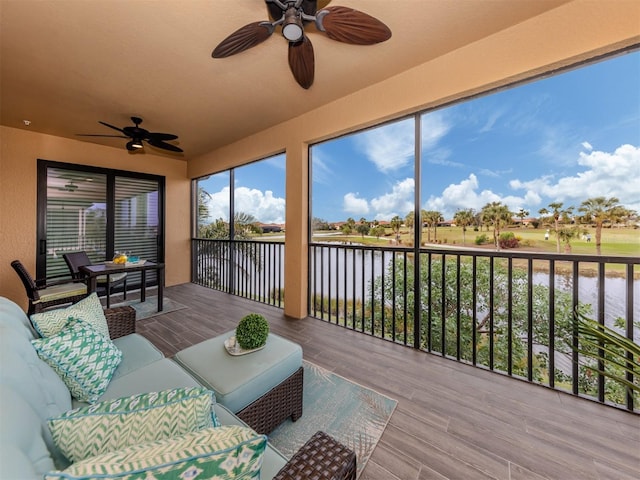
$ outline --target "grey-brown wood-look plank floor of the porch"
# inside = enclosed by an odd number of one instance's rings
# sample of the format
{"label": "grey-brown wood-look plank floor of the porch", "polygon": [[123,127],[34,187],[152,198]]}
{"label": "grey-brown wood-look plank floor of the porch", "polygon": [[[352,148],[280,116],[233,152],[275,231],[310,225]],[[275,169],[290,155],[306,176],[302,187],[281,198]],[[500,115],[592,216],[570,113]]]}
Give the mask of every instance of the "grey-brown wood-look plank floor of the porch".
{"label": "grey-brown wood-look plank floor of the porch", "polygon": [[167,356],[262,313],[304,358],[398,400],[362,480],[639,479],[640,416],[193,284],[138,322]]}

